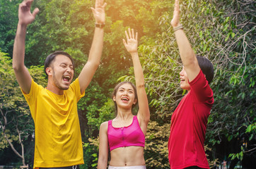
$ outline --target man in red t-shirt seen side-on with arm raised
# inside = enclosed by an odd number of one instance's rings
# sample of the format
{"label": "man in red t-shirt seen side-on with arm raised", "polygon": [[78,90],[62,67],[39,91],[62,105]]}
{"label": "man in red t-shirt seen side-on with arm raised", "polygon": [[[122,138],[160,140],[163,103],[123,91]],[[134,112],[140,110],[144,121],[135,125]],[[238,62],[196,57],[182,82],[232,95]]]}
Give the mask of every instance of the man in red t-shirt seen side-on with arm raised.
{"label": "man in red t-shirt seen side-on with arm raised", "polygon": [[204,57],[196,56],[180,24],[179,1],[175,0],[171,21],[183,63],[180,87],[187,90],[175,109],[168,142],[170,168],[209,168],[204,152],[207,118],[214,104],[209,83],[214,67]]}

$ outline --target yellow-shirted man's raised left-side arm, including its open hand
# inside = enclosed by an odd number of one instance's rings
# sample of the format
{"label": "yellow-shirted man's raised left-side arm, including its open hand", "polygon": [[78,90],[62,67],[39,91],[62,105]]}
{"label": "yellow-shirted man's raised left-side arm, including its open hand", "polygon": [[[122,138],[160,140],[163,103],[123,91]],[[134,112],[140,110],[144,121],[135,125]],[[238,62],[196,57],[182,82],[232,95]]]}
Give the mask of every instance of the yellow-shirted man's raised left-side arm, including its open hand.
{"label": "yellow-shirted man's raised left-side arm, including its open hand", "polygon": [[25,0],[18,7],[18,26],[13,45],[13,69],[18,84],[25,94],[30,92],[32,81],[28,69],[24,65],[25,34],[27,26],[35,20],[35,15],[39,12],[38,8],[35,8],[33,13],[30,12],[32,3],[33,0]]}

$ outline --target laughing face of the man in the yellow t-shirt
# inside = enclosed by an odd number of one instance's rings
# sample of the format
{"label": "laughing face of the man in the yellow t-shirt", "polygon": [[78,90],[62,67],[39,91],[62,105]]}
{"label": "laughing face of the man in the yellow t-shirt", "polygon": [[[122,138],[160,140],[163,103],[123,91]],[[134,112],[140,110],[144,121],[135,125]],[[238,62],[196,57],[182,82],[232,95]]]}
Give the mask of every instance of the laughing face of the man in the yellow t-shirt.
{"label": "laughing face of the man in the yellow t-shirt", "polygon": [[69,85],[74,77],[74,65],[69,57],[57,55],[47,68],[48,80],[52,81],[54,87],[60,90],[69,89]]}

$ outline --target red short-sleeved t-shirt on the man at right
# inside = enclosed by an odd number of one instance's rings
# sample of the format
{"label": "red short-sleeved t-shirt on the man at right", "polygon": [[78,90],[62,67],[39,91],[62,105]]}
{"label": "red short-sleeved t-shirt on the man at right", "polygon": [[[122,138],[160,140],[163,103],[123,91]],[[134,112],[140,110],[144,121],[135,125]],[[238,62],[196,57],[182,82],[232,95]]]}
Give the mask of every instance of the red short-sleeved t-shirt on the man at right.
{"label": "red short-sleeved t-shirt on the man at right", "polygon": [[175,109],[168,142],[170,168],[197,165],[209,168],[204,152],[207,118],[214,104],[214,94],[200,70],[190,82],[190,92]]}

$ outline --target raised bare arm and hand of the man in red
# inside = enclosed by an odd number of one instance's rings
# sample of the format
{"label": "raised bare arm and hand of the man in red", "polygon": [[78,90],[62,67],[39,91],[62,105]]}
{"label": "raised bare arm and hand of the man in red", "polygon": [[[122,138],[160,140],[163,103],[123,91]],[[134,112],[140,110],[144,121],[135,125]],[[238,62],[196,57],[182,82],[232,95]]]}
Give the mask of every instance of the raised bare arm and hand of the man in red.
{"label": "raised bare arm and hand of the man in red", "polygon": [[185,32],[180,28],[182,25],[180,24],[179,0],[175,0],[175,8],[173,11],[173,20],[171,21],[171,25],[175,31],[175,38],[178,43],[180,58],[186,70],[187,77],[191,82],[195,77],[197,77],[200,68],[190,42],[188,41]]}

